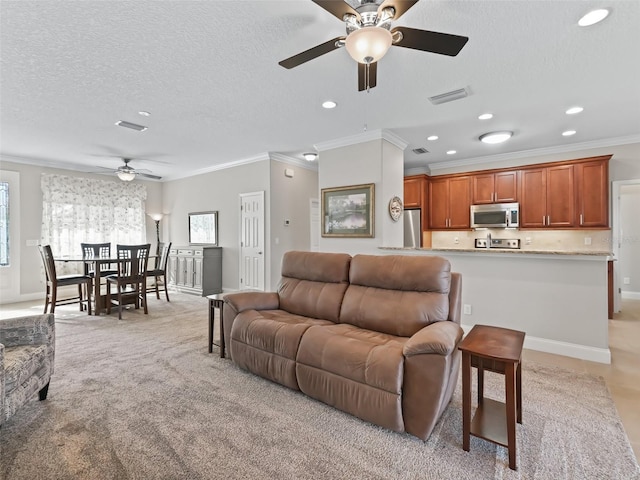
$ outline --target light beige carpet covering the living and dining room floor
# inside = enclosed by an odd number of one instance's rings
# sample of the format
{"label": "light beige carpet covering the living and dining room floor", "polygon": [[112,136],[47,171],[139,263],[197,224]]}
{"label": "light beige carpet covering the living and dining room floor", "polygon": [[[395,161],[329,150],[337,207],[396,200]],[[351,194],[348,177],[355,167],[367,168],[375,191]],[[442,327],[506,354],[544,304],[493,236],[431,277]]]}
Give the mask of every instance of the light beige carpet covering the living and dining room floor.
{"label": "light beige carpet covering the living and dining room floor", "polygon": [[[149,299],[123,320],[65,310],[45,402],[0,430],[0,478],[639,479],[602,379],[525,364],[518,471],[462,450],[460,388],[423,442],[364,423],[207,351],[207,303]],[[488,396],[502,378],[487,374]]]}

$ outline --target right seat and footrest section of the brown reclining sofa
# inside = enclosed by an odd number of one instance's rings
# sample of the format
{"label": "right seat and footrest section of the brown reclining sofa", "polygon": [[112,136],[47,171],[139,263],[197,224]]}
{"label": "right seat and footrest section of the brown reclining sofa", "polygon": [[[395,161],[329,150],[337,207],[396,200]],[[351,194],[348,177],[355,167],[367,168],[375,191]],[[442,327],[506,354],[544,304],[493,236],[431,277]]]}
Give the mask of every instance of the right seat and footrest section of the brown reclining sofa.
{"label": "right seat and footrest section of the brown reclining sofa", "polygon": [[298,350],[300,390],[363,420],[403,431],[406,340],[354,327],[310,327]]}

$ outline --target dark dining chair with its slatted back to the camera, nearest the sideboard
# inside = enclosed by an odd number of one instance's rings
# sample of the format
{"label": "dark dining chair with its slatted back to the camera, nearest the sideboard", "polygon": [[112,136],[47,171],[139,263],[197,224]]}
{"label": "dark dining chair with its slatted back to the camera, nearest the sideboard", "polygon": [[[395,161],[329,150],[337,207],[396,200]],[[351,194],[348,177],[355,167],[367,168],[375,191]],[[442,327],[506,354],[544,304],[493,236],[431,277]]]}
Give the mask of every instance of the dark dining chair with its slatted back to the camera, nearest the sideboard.
{"label": "dark dining chair with its slatted back to the camera, nearest the sideboard", "polygon": [[[118,319],[122,319],[122,307],[133,303],[140,308],[140,302],[147,309],[146,272],[149,261],[151,244],[144,245],[116,245],[118,253],[118,271],[107,279],[107,314],[111,313],[113,305],[118,306]],[[111,288],[116,288],[116,298],[112,298]]]}

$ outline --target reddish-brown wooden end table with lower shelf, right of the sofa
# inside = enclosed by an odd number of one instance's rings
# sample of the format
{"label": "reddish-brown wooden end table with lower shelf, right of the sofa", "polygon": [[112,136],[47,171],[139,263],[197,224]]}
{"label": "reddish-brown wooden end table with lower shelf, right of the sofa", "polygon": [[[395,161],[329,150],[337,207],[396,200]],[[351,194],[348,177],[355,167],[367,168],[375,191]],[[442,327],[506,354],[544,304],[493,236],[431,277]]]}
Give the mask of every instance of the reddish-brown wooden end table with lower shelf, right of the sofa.
{"label": "reddish-brown wooden end table with lower shelf, right of the sofa", "polygon": [[[460,342],[462,351],[462,448],[470,436],[507,447],[509,468],[516,467],[516,421],[522,423],[522,345],[525,333],[475,325]],[[471,369],[478,369],[478,408],[471,420]],[[484,398],[484,371],[505,376],[505,402]]]}

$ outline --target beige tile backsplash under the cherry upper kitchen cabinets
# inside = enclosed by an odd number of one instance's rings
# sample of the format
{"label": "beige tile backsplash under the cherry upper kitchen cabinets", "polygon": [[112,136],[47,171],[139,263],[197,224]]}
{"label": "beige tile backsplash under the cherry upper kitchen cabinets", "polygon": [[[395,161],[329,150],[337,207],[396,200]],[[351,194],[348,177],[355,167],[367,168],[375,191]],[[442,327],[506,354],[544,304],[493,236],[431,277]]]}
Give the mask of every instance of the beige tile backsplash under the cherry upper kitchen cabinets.
{"label": "beige tile backsplash under the cherry upper kitchen cabinets", "polygon": [[611,230],[509,230],[433,231],[431,248],[475,248],[476,238],[519,238],[521,250],[554,252],[610,252]]}

